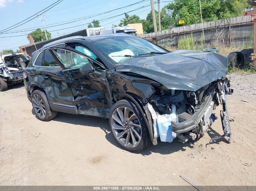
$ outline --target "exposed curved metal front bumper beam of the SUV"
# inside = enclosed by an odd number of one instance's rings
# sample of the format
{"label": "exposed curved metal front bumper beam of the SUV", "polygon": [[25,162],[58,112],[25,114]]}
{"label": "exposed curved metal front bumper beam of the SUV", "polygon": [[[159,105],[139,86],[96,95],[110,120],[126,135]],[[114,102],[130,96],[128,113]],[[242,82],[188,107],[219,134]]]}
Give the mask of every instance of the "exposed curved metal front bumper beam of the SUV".
{"label": "exposed curved metal front bumper beam of the SUV", "polygon": [[211,104],[211,101],[214,97],[215,88],[212,88],[212,91],[210,91],[210,94],[204,98],[204,102],[201,104],[201,108],[199,111],[196,111],[191,119],[188,119],[181,123],[176,123],[174,121],[171,121],[171,129],[173,132],[179,134],[179,133],[185,133],[188,132],[198,126],[200,123],[200,120],[204,116],[206,110],[208,109],[209,105]]}

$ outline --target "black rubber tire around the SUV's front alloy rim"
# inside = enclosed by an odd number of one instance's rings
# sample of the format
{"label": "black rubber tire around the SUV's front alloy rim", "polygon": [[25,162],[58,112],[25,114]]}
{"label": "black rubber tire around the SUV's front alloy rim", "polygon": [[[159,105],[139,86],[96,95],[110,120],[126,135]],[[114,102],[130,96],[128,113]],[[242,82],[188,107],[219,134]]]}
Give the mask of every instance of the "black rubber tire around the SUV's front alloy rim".
{"label": "black rubber tire around the SUV's front alloy rim", "polygon": [[[128,146],[125,146],[124,144],[122,144],[119,141],[120,138],[118,140],[118,138],[116,137],[117,131],[119,131],[119,129],[118,130],[115,129],[115,128],[113,129],[113,126],[112,126],[113,121],[114,121],[114,123],[116,123],[115,119],[112,119],[113,115],[115,115],[114,112],[118,108],[123,108],[123,107],[128,108],[129,110],[131,110],[131,113],[134,113],[136,115],[137,119],[135,119],[135,120],[138,120],[139,123],[137,122],[137,124],[139,124],[141,126],[141,131],[139,132],[139,134],[141,135],[141,138],[140,138],[139,141],[136,140],[137,145],[135,145],[134,147],[128,147]],[[131,114],[131,113],[129,113],[129,114]],[[118,116],[119,116],[119,114],[118,114]],[[110,111],[109,124],[110,124],[110,130],[111,130],[111,133],[112,133],[113,137],[118,142],[118,144],[121,145],[121,147],[124,148],[125,150],[131,151],[131,152],[139,152],[139,151],[142,151],[143,149],[147,148],[149,145],[151,145],[151,139],[150,139],[150,135],[149,135],[149,132],[148,132],[148,127],[145,123],[143,115],[140,112],[140,110],[138,109],[138,107],[135,105],[135,103],[133,103],[130,99],[120,100],[120,101],[118,101],[117,103],[114,104],[114,106],[111,108],[111,111]],[[129,125],[129,123],[127,125]],[[131,126],[130,126],[129,129],[131,129],[131,128],[135,129],[134,127],[131,127]],[[123,127],[123,128],[125,128],[125,127]],[[128,129],[128,127],[127,127],[127,129]],[[130,130],[130,135],[131,135],[132,132],[135,132],[133,129]],[[124,132],[125,130],[121,129],[120,131]],[[134,135],[135,135],[135,133],[133,134],[133,138],[134,138]],[[138,138],[138,137],[136,137],[136,138]],[[129,138],[129,140],[131,140],[131,139],[132,138]],[[131,140],[131,142],[133,143],[133,140]]]}

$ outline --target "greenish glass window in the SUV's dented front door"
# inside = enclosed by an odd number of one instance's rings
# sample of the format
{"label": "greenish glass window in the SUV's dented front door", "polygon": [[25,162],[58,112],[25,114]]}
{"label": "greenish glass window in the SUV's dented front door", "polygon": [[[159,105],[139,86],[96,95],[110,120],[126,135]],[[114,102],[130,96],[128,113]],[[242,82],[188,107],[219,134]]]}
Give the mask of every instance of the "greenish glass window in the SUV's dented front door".
{"label": "greenish glass window in the SUV's dented front door", "polygon": [[77,68],[90,63],[87,58],[79,56],[75,53],[71,53],[68,51],[56,52],[55,50],[53,52],[66,69]]}

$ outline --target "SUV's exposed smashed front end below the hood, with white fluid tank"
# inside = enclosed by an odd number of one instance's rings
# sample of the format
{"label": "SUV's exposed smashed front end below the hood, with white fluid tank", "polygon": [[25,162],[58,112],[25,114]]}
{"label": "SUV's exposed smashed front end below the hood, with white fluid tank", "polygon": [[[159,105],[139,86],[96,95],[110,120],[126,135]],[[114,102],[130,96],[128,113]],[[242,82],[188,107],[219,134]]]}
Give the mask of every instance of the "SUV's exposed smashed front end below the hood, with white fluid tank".
{"label": "SUV's exposed smashed front end below the hood, with white fluid tank", "polygon": [[[226,94],[232,94],[230,80],[223,77],[197,91],[168,90],[165,86],[154,87],[155,94],[147,103],[153,121],[154,138],[163,142],[195,140],[208,131],[217,117],[213,110],[222,105],[221,121],[224,135],[230,142],[231,129],[228,117]],[[171,131],[170,131],[171,124]],[[211,140],[217,139],[215,137]]]}

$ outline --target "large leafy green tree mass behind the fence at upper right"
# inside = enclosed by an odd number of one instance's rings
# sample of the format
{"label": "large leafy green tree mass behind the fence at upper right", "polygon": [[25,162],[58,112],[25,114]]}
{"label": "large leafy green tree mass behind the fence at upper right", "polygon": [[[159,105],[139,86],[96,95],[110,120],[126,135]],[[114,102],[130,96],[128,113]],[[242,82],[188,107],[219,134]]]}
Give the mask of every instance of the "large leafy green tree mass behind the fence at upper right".
{"label": "large leafy green tree mass behind the fence at upper right", "polygon": [[[251,7],[248,0],[201,0],[203,21],[214,21],[230,17],[241,16],[244,8]],[[184,20],[183,25],[201,22],[200,6],[198,0],[179,0],[165,6],[171,11],[175,19],[175,26],[179,20]]]}

